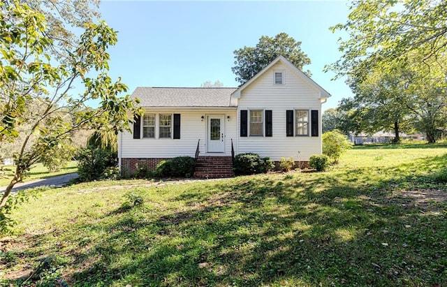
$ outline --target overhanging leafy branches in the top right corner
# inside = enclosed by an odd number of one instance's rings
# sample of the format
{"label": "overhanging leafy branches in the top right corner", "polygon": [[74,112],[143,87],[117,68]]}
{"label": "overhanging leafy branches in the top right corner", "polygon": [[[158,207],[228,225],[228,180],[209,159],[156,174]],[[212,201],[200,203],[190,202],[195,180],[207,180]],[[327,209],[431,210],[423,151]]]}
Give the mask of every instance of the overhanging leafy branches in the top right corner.
{"label": "overhanging leafy branches in the top right corner", "polygon": [[349,9],[347,22],[331,27],[349,34],[339,40],[341,59],[327,67],[337,77],[362,80],[374,69],[389,71],[411,54],[419,55],[421,64],[443,66],[437,59],[446,57],[446,1],[356,0]]}

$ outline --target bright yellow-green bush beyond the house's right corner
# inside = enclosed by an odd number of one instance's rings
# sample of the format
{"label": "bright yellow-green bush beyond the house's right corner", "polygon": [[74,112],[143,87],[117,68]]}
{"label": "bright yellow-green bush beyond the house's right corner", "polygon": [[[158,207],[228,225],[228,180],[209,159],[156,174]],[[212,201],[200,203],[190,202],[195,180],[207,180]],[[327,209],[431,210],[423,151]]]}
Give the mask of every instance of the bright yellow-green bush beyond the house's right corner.
{"label": "bright yellow-green bush beyond the house's right corner", "polygon": [[340,156],[351,147],[352,142],[338,130],[323,133],[323,154],[329,156],[333,163],[338,163]]}

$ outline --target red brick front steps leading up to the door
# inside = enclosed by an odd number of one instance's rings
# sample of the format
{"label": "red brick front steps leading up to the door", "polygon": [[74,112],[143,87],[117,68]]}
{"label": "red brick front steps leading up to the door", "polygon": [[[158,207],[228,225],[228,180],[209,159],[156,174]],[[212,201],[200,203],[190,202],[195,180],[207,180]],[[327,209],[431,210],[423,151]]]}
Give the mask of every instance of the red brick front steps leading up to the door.
{"label": "red brick front steps leading up to the door", "polygon": [[199,156],[194,177],[233,177],[233,161],[230,156]]}

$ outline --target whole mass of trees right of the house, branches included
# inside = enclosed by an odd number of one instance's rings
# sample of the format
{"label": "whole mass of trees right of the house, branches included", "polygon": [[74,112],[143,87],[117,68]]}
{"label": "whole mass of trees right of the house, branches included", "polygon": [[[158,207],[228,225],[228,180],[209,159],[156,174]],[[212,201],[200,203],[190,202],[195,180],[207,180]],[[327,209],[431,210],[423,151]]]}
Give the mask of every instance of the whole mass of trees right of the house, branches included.
{"label": "whole mass of trees right of the house, branches included", "polygon": [[353,98],[323,114],[323,128],[441,137],[447,124],[447,3],[353,1],[339,41],[344,54],[326,70],[348,77]]}

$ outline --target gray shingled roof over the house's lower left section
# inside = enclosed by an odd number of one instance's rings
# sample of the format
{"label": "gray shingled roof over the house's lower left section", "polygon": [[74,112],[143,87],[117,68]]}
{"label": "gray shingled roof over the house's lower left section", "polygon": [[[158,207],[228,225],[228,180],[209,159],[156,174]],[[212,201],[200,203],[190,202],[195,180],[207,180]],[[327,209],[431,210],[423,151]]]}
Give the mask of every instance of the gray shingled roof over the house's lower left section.
{"label": "gray shingled roof over the house's lower left section", "polygon": [[234,107],[230,100],[236,89],[138,87],[131,97],[142,107]]}

